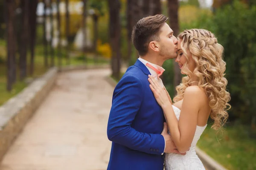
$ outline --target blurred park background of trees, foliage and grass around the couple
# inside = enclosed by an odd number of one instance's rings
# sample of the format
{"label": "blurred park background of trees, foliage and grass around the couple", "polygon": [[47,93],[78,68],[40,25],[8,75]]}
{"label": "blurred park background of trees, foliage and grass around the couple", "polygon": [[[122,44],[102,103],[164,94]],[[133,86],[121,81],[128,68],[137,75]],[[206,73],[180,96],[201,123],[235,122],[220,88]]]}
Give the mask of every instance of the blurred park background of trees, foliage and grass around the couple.
{"label": "blurred park background of trees, foliage and grass around the couple", "polygon": [[[0,0],[0,11],[0,105],[54,66],[109,64],[118,81],[138,57],[131,29],[148,15],[168,16],[175,36],[212,31],[224,46],[232,109],[224,130],[208,125],[198,147],[227,169],[256,169],[256,0]],[[163,68],[175,96],[180,69],[174,60]]]}

